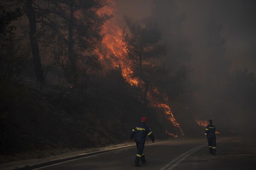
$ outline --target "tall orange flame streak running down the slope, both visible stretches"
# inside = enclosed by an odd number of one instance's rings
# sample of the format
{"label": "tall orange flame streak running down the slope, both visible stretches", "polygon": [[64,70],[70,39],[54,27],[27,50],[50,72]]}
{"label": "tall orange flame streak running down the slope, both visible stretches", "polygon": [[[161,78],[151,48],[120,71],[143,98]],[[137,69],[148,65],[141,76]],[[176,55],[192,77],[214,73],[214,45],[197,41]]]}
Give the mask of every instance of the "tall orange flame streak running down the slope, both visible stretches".
{"label": "tall orange flame streak running down the slope, both visible stretches", "polygon": [[[144,85],[143,80],[134,76],[132,63],[124,57],[125,54],[127,54],[127,49],[125,48],[125,43],[122,41],[122,29],[119,28],[118,23],[116,22],[116,16],[114,15],[116,13],[116,3],[114,0],[108,0],[107,2],[108,6],[102,8],[98,13],[113,15],[113,18],[108,20],[103,26],[105,37],[96,49],[96,53],[103,63],[110,63],[111,69],[119,69],[122,73],[122,77],[128,84],[142,88]],[[159,91],[155,92],[156,94],[160,93]],[[166,102],[160,102],[150,97],[153,96],[151,93],[155,92],[148,92],[150,105],[155,108],[163,108],[166,118],[179,130],[180,136],[183,136],[183,131],[174,118],[170,106],[167,105]],[[166,133],[170,136],[177,137],[177,134],[169,133],[167,130]]]}

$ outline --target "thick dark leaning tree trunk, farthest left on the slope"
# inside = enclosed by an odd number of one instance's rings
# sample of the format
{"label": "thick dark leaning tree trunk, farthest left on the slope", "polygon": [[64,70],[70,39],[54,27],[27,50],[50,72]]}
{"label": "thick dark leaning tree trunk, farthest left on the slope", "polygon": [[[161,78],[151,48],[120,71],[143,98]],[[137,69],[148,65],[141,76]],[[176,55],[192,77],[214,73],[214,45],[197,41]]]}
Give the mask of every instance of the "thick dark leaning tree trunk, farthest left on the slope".
{"label": "thick dark leaning tree trunk, farthest left on the slope", "polygon": [[29,18],[29,39],[32,50],[33,64],[38,82],[44,84],[44,72],[42,70],[41,59],[39,56],[38,39],[36,36],[35,13],[32,8],[32,0],[26,0],[26,13]]}

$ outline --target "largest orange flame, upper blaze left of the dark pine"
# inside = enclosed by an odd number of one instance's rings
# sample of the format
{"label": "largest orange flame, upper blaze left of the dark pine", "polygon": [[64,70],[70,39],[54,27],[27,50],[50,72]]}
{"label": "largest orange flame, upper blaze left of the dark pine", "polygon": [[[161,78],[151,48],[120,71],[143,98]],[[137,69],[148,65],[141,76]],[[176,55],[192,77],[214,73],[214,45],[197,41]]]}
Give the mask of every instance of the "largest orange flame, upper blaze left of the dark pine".
{"label": "largest orange flame, upper blaze left of the dark pine", "polygon": [[[108,5],[102,8],[99,14],[115,14],[116,13],[116,4],[112,0],[108,0]],[[125,43],[122,41],[122,30],[115,23],[115,16],[108,20],[103,25],[103,32],[105,37],[102,40],[102,43],[99,45],[99,48],[96,49],[96,53],[99,55],[99,58],[104,62],[105,60],[110,60],[111,67],[116,69],[119,68],[122,73],[122,77],[132,86],[139,85],[139,79],[134,77],[133,70],[131,69],[131,63],[129,63],[123,57],[123,54],[126,54]]]}

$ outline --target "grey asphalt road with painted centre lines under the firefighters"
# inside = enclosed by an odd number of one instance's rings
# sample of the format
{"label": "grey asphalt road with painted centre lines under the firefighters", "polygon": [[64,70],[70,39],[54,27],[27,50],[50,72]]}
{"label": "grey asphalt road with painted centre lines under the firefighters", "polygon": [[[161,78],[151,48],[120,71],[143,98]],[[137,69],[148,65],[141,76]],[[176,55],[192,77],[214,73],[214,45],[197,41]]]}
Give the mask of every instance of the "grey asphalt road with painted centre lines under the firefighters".
{"label": "grey asphalt road with painted centre lines under the firefighters", "polygon": [[187,138],[145,146],[148,161],[133,167],[136,147],[41,167],[42,170],[256,170],[256,137],[217,136],[216,156],[205,138]]}

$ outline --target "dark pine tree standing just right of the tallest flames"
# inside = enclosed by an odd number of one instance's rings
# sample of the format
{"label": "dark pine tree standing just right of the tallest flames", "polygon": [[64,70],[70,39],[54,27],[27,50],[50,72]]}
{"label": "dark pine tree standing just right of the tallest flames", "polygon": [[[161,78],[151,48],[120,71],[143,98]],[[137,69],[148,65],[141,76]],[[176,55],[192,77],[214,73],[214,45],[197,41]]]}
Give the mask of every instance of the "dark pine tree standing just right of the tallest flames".
{"label": "dark pine tree standing just right of the tallest flames", "polygon": [[133,21],[124,16],[129,33],[123,31],[123,42],[127,49],[126,57],[134,65],[134,75],[144,82],[143,101],[147,104],[148,90],[151,85],[151,73],[155,69],[154,59],[166,53],[166,46],[160,44],[161,31],[156,24]]}

